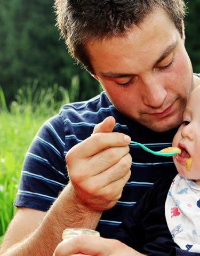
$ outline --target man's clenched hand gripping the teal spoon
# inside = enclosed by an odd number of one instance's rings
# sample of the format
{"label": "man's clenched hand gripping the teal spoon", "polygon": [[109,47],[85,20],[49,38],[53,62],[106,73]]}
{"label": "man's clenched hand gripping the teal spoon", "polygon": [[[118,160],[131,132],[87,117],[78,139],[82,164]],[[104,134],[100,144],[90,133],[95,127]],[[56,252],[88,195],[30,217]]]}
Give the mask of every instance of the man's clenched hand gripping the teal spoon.
{"label": "man's clenched hand gripping the teal spoon", "polygon": [[113,207],[129,180],[132,158],[131,138],[112,132],[115,119],[107,117],[93,134],[71,148],[66,155],[68,174],[79,201],[90,210]]}

